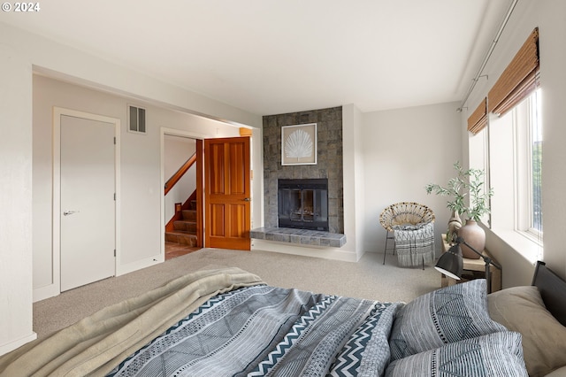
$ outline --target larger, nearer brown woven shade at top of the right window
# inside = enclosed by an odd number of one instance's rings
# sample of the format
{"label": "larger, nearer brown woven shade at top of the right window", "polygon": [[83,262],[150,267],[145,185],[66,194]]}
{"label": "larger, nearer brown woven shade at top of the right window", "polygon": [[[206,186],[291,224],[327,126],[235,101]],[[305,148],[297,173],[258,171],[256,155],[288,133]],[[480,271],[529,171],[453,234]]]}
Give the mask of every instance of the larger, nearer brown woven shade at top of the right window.
{"label": "larger, nearer brown woven shade at top of the right window", "polygon": [[489,112],[501,116],[539,86],[539,28],[529,35],[489,91]]}

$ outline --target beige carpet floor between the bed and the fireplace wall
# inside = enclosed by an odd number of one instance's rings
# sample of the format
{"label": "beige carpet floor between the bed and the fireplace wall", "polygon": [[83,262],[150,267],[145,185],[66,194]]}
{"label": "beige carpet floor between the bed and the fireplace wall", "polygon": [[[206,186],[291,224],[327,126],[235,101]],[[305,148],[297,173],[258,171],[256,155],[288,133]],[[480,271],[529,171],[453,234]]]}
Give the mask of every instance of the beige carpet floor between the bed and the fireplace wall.
{"label": "beige carpet floor between the bed and the fireplace wall", "polygon": [[231,266],[256,273],[272,286],[382,302],[409,302],[440,288],[440,273],[432,265],[424,270],[402,268],[393,255],[387,255],[383,265],[383,254],[378,253],[366,253],[358,262],[341,262],[260,250],[202,249],[34,303],[34,331],[43,338],[186,273]]}

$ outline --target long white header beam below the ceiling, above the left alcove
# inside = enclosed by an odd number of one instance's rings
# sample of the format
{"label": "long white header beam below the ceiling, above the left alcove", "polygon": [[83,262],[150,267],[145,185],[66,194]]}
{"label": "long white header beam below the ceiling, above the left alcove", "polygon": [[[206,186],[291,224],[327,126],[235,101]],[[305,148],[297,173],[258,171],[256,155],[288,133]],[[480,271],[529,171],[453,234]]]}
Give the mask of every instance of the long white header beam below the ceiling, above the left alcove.
{"label": "long white header beam below the ceiling, above the left alcove", "polygon": [[0,22],[0,43],[11,46],[34,66],[35,72],[72,81],[111,93],[135,96],[166,104],[183,112],[206,115],[234,124],[262,127],[262,119],[229,104],[223,104],[153,77],[117,65],[95,55],[52,42]]}

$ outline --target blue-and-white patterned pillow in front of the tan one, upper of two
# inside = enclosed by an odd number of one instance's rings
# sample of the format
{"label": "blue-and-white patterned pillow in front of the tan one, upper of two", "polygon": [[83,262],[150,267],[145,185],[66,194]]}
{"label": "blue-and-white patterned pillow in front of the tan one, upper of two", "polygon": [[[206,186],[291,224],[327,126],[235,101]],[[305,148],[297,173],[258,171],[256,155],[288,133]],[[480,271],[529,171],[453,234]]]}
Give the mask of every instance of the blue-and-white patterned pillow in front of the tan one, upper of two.
{"label": "blue-and-white patterned pillow in front of the tan one, upper of two", "polygon": [[391,359],[500,331],[489,318],[486,280],[476,279],[419,296],[397,312],[389,338]]}

